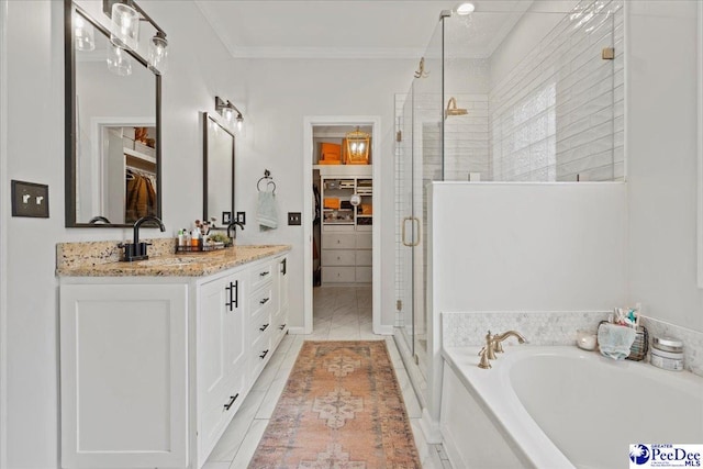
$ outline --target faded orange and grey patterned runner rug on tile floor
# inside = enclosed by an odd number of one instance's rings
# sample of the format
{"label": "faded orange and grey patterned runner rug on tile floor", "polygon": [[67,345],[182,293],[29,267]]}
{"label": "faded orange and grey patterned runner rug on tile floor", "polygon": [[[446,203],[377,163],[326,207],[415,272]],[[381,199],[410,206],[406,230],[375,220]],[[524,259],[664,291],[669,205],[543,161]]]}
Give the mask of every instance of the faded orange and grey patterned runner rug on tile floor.
{"label": "faded orange and grey patterned runner rug on tile floor", "polygon": [[384,340],[304,342],[249,469],[421,468]]}

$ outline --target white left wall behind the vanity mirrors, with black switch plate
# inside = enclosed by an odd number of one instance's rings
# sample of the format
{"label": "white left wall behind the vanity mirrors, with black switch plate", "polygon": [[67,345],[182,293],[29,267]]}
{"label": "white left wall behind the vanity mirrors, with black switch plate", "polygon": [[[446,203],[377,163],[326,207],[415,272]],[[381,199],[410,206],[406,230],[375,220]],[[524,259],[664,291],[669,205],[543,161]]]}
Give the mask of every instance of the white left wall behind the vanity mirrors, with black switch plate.
{"label": "white left wall behind the vanity mirrors, with black switch plate", "polygon": [[[56,468],[55,244],[120,239],[130,237],[131,231],[64,227],[64,3],[48,0],[8,3],[10,120],[8,171],[2,177],[49,185],[51,217],[2,220],[8,233],[7,298],[3,298],[8,337],[7,464],[12,469]],[[169,75],[163,86],[163,200],[167,231],[161,234],[148,230],[143,235],[170,236],[179,226],[202,216],[198,112],[213,111],[215,94],[236,98],[233,77],[238,74],[192,2],[140,4],[166,30],[172,47]]]}

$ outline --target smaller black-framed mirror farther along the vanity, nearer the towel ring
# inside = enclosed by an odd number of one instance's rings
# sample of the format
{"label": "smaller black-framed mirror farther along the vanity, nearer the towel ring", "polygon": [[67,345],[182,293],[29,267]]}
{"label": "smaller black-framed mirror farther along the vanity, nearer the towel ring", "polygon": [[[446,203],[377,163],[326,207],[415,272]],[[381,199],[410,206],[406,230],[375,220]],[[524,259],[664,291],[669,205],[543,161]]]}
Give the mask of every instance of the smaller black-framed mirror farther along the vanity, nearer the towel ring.
{"label": "smaller black-framed mirror farther along the vanity, nearer the towel ring", "polygon": [[202,216],[226,227],[234,221],[234,134],[217,114],[203,112],[202,123]]}

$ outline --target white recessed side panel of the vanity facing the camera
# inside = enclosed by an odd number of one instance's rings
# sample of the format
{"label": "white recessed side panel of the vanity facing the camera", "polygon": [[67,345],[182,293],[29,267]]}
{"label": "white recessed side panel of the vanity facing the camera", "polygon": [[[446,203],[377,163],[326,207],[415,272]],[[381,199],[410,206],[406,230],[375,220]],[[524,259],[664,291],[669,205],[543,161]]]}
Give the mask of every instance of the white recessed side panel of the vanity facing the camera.
{"label": "white recessed side panel of the vanity facing the camera", "polygon": [[59,292],[62,467],[187,467],[188,287]]}

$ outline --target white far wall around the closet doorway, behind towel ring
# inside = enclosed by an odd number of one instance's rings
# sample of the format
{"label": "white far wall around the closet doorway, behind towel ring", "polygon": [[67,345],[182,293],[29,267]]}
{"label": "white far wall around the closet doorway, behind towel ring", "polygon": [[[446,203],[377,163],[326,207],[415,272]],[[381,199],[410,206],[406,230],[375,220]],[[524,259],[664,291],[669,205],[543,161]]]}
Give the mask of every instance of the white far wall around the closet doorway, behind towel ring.
{"label": "white far wall around the closet doorway, behind towel ring", "polygon": [[[247,212],[246,228],[237,233],[244,244],[293,245],[290,265],[300,272],[290,279],[290,325],[303,326],[303,230],[287,226],[287,212],[303,209],[303,118],[315,115],[378,115],[381,118],[382,200],[378,213],[392,213],[393,94],[408,87],[416,60],[315,60],[247,59],[237,62],[244,71],[236,77],[246,91],[246,137],[237,147],[236,210]],[[250,116],[250,118],[249,118]],[[250,123],[250,124],[249,124]],[[260,232],[256,220],[256,182],[269,169],[276,181],[280,225]],[[376,211],[377,209],[375,209]],[[303,223],[312,214],[303,213]],[[381,325],[393,324],[394,225],[383,223],[381,233]]]}

